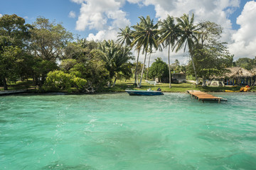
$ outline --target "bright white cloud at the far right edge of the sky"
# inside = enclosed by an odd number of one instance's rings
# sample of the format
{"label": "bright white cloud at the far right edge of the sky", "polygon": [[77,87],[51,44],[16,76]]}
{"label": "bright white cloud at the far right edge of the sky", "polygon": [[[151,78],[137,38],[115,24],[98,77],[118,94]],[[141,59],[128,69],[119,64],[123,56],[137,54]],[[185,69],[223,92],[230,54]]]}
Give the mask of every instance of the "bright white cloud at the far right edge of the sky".
{"label": "bright white cloud at the far right edge of the sky", "polygon": [[245,4],[241,15],[237,18],[240,29],[233,34],[233,43],[229,45],[230,52],[239,57],[256,56],[256,2],[249,1]]}

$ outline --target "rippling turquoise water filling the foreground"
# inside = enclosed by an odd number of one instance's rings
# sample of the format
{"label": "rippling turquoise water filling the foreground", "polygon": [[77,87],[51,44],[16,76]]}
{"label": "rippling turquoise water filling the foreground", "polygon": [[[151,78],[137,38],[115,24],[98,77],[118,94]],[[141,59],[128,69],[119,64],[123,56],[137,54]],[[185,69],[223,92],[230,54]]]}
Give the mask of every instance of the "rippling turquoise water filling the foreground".
{"label": "rippling turquoise water filling the foreground", "polygon": [[0,97],[0,169],[255,169],[256,94]]}

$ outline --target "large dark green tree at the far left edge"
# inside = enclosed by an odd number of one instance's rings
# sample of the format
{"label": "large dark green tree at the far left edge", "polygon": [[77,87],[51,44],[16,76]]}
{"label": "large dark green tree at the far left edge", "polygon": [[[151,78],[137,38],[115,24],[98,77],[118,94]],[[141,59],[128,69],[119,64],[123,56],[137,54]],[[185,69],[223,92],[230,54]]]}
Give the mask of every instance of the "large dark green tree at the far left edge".
{"label": "large dark green tree at the far left edge", "polygon": [[15,14],[0,18],[0,79],[5,90],[8,90],[6,80],[18,75],[18,63],[23,61],[30,28],[31,25]]}

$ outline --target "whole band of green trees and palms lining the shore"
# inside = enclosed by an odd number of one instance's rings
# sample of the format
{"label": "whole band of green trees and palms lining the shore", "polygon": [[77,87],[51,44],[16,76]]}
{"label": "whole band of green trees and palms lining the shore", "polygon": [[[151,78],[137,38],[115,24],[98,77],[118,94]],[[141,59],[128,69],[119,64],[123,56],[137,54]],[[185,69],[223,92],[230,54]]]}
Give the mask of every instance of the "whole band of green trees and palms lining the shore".
{"label": "whole band of green trees and palms lining the shore", "polygon": [[[15,14],[4,15],[0,18],[0,84],[6,90],[11,81],[33,79],[41,89],[90,92],[115,86],[117,79],[134,77],[134,85],[140,87],[142,79],[157,77],[169,81],[171,88],[172,72],[208,79],[234,64],[233,55],[219,41],[223,28],[215,23],[195,24],[193,15],[187,14],[167,16],[157,23],[149,16],[139,19],[135,26],[120,28],[117,41],[95,42],[75,39],[61,24],[47,18],[26,24]],[[164,48],[168,49],[168,64],[159,56],[146,68],[146,58],[150,62],[153,50]],[[180,66],[178,60],[176,67],[170,63],[170,52],[179,50],[188,51],[191,60],[187,66]],[[143,62],[139,62],[140,55],[144,55]]]}

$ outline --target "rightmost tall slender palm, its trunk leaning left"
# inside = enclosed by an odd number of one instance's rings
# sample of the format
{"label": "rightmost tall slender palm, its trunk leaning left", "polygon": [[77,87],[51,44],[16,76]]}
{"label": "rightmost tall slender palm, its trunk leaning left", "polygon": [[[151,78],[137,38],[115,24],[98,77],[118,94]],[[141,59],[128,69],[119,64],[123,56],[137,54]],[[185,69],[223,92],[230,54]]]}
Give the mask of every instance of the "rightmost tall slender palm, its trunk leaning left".
{"label": "rightmost tall slender palm, its trunk leaning left", "polygon": [[178,50],[181,50],[181,47],[183,47],[183,45],[185,45],[185,52],[186,46],[188,46],[188,52],[191,55],[193,70],[195,72],[196,84],[198,84],[196,67],[193,62],[193,47],[196,45],[196,43],[198,43],[199,28],[197,25],[194,25],[193,18],[194,15],[192,14],[191,20],[189,21],[189,16],[186,13],[184,13],[183,16],[181,16],[181,18],[176,18],[178,26],[181,29],[181,37],[178,39],[178,42],[176,43],[176,52],[178,52]]}

